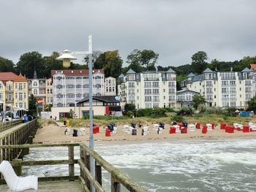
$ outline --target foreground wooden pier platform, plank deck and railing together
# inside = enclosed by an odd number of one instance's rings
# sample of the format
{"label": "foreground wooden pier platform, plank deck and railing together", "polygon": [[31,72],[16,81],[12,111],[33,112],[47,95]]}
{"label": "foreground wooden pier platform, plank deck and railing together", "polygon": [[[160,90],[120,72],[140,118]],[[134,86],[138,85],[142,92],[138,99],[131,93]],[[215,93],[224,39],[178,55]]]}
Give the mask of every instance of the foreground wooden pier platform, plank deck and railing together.
{"label": "foreground wooden pier platform, plank deck and railing together", "polygon": [[[74,147],[80,147],[80,158],[74,158]],[[49,176],[39,177],[38,191],[91,191],[91,185],[94,186],[95,191],[121,191],[121,185],[127,188],[128,191],[146,192],[146,189],[135,183],[134,180],[129,178],[126,174],[120,172],[116,167],[109,164],[94,150],[91,150],[83,143],[61,143],[61,144],[38,144],[38,145],[1,145],[0,150],[21,150],[25,148],[34,147],[67,147],[66,160],[44,160],[44,161],[10,161],[15,169],[16,174],[22,172],[22,166],[42,166],[42,165],[59,165],[67,164],[69,174],[66,176]],[[94,158],[95,175],[90,172],[90,157]],[[80,174],[75,175],[75,164],[80,166]],[[110,174],[110,188],[105,189],[102,187],[102,169],[105,169]],[[0,180],[4,183],[4,179]],[[58,190],[56,190],[58,188]],[[0,185],[0,191],[7,189],[7,185]]]}

